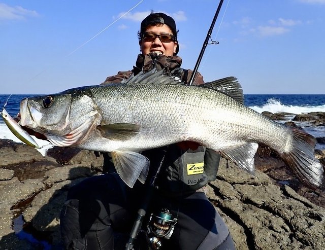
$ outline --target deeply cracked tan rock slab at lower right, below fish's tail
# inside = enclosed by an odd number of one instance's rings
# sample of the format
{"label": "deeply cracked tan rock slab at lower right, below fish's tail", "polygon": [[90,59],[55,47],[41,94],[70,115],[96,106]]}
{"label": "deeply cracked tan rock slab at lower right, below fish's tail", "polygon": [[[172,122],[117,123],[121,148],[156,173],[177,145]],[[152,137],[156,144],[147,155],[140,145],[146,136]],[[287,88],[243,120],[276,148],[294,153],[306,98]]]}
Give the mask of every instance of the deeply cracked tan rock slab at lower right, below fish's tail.
{"label": "deeply cracked tan rock slab at lower right, below fish's tail", "polygon": [[219,171],[207,194],[226,222],[231,218],[241,226],[237,238],[236,223],[228,224],[237,249],[323,249],[324,208],[288,186],[273,185],[267,175],[238,177],[234,166]]}

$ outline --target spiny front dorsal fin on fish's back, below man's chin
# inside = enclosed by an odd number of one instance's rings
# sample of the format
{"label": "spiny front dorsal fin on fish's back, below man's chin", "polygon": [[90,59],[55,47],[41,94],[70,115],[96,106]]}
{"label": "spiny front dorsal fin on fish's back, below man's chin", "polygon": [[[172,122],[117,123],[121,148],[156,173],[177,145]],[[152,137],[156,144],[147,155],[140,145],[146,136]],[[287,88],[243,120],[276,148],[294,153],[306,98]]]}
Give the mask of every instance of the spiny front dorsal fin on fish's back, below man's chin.
{"label": "spiny front dorsal fin on fish's back, below man's chin", "polygon": [[140,72],[138,75],[128,78],[123,84],[141,84],[141,85],[179,85],[184,83],[166,75],[165,70],[157,71],[155,68],[151,69],[149,72]]}

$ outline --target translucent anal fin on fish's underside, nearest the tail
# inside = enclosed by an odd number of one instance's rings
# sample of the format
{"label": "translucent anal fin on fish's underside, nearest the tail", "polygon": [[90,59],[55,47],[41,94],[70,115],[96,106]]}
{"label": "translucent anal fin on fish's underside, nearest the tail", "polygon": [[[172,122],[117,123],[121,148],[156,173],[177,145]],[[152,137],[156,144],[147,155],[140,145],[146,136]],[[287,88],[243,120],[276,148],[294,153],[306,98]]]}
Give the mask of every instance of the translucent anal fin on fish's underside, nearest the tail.
{"label": "translucent anal fin on fish's underside, nearest the tail", "polygon": [[240,168],[250,174],[254,174],[254,155],[257,151],[258,144],[251,142],[244,144],[235,149],[228,149],[221,152],[223,156],[235,162]]}

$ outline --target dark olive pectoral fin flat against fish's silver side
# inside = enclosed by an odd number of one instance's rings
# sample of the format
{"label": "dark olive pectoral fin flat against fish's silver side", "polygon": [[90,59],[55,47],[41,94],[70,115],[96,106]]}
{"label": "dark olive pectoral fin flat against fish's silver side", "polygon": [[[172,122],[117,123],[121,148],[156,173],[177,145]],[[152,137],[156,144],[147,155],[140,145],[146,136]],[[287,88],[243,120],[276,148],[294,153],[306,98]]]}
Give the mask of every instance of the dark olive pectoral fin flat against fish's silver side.
{"label": "dark olive pectoral fin flat against fish's silver side", "polygon": [[140,126],[132,123],[112,123],[97,126],[102,135],[110,140],[128,140],[136,136]]}

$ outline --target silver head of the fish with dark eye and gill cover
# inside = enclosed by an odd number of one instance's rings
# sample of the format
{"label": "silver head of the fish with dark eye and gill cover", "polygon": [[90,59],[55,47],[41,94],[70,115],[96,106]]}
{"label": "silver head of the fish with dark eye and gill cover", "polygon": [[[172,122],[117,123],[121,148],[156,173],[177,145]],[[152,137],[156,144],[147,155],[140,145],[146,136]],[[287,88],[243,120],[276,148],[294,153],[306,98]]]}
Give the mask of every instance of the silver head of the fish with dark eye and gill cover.
{"label": "silver head of the fish with dark eye and gill cover", "polygon": [[27,97],[20,102],[21,125],[43,133],[52,144],[77,144],[96,124],[96,106],[87,95],[61,92]]}

